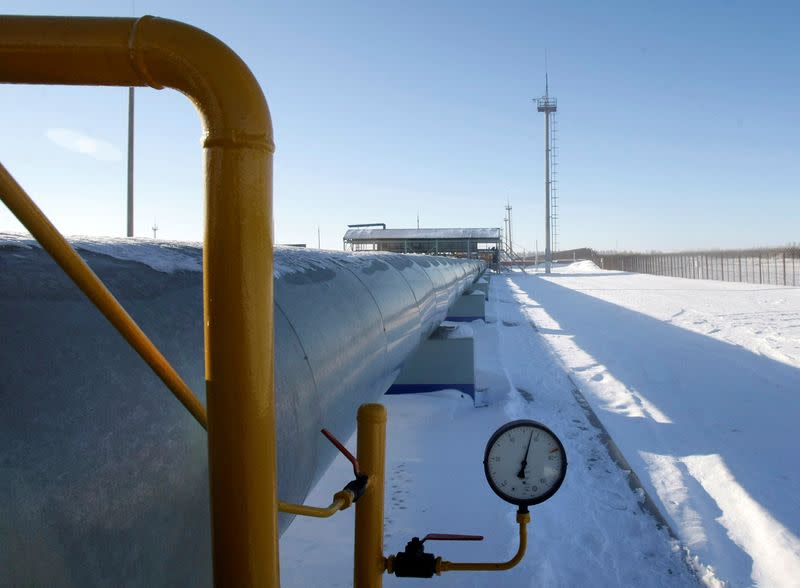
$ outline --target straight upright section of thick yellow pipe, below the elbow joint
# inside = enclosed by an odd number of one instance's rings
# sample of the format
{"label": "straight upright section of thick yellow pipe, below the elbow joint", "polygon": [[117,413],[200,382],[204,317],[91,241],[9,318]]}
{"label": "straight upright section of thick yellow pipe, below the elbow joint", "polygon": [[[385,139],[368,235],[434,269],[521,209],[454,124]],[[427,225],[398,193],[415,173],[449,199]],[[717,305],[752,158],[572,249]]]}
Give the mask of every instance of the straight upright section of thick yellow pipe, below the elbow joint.
{"label": "straight upright section of thick yellow pipe, below the elbow joint", "polygon": [[[271,158],[206,150],[203,256],[214,583],[277,586]],[[252,191],[252,192],[251,192]],[[233,194],[252,194],[234,198]]]}

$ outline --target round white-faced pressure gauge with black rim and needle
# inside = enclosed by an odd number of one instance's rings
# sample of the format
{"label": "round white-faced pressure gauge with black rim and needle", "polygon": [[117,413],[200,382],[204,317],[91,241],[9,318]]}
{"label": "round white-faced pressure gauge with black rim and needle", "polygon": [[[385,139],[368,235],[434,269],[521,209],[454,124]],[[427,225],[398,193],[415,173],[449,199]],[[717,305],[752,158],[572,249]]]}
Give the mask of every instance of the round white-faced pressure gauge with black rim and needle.
{"label": "round white-faced pressure gauge with black rim and needle", "polygon": [[513,421],[489,439],[483,468],[500,498],[528,506],[556,493],[567,473],[567,454],[555,433],[543,424]]}

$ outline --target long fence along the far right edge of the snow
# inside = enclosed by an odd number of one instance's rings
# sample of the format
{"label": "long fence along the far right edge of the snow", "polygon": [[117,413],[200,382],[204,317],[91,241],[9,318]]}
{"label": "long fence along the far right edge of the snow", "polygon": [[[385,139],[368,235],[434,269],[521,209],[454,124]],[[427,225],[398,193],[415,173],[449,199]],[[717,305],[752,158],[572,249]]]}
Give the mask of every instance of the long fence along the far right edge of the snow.
{"label": "long fence along the far right edge of the snow", "polygon": [[686,253],[598,253],[598,266],[657,276],[800,286],[800,248],[693,251]]}

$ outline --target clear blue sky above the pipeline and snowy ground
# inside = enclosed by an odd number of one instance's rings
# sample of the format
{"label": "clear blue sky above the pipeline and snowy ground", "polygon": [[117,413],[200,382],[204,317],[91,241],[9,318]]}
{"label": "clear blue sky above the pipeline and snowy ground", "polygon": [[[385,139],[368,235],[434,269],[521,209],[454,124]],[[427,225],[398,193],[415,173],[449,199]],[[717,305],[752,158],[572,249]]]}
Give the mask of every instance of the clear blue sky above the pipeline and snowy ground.
{"label": "clear blue sky above the pipeline and snowy ground", "polygon": [[[800,241],[793,3],[77,2],[12,14],[189,22],[250,65],[275,126],[278,242],[348,223],[502,226],[543,247],[542,94],[558,99],[562,249]],[[136,93],[136,235],[202,238],[200,123]],[[0,161],[66,234],[125,231],[127,90],[0,87]],[[0,230],[20,230],[0,205]]]}

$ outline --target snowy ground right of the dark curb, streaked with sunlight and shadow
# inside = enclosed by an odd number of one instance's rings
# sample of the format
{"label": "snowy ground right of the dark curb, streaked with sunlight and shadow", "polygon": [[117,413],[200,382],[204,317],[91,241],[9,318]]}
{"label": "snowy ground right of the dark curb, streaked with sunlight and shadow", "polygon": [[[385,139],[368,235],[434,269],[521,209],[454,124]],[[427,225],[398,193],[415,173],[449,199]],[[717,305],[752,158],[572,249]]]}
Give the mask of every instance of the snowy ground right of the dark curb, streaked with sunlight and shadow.
{"label": "snowy ground right of the dark curb, streaked with sunlight and shadow", "polygon": [[714,581],[800,586],[800,288],[588,262],[506,282]]}

